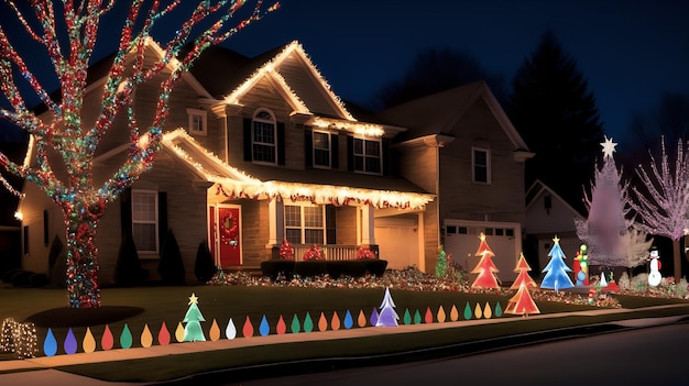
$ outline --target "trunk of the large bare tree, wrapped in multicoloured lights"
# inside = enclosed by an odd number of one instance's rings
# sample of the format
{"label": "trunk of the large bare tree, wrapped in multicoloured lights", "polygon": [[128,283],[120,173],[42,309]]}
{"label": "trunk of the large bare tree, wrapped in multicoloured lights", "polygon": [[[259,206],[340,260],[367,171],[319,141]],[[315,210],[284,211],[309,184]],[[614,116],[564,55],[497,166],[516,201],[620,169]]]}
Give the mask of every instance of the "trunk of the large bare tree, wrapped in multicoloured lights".
{"label": "trunk of the large bare tree, wrapped in multicoloured lights", "polygon": [[[86,207],[81,207],[86,208]],[[98,249],[94,243],[102,211],[74,208],[65,213],[67,228],[67,293],[70,308],[100,307]]]}

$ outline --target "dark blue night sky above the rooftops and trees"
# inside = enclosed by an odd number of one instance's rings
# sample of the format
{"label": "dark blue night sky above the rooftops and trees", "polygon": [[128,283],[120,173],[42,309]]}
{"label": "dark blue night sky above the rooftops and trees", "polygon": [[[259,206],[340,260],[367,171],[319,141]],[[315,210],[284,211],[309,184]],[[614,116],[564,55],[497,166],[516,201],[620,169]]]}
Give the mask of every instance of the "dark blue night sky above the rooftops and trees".
{"label": "dark blue night sky above the rooftops and trees", "polygon": [[[648,111],[664,92],[689,93],[689,1],[281,3],[278,11],[225,45],[252,56],[297,40],[333,91],[363,106],[383,85],[398,79],[426,48],[464,52],[504,77],[508,87],[546,29],[577,60],[597,98],[604,131],[615,140],[624,136],[633,111]],[[2,11],[0,19],[8,15]]]}

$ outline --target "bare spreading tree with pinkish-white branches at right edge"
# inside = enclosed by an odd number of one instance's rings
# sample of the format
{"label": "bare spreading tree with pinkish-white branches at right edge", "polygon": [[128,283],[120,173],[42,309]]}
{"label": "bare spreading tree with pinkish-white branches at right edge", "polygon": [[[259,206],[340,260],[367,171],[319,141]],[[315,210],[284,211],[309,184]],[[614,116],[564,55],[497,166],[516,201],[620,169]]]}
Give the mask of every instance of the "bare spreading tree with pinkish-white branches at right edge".
{"label": "bare spreading tree with pinkish-white branches at right edge", "polygon": [[632,208],[641,221],[638,227],[644,231],[672,240],[672,258],[675,279],[681,277],[681,258],[679,240],[689,229],[689,158],[681,140],[677,142],[675,168],[670,167],[661,141],[660,163],[649,152],[650,163],[647,168],[638,165],[636,174],[641,186],[632,187],[635,200]]}

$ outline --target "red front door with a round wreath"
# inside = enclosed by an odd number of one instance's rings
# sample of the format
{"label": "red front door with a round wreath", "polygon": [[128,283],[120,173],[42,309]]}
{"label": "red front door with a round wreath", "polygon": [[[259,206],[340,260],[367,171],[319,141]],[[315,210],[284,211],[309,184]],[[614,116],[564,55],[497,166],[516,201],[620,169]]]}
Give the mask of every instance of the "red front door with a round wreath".
{"label": "red front door with a round wreath", "polygon": [[241,211],[239,206],[210,207],[211,253],[222,267],[239,266],[241,253]]}

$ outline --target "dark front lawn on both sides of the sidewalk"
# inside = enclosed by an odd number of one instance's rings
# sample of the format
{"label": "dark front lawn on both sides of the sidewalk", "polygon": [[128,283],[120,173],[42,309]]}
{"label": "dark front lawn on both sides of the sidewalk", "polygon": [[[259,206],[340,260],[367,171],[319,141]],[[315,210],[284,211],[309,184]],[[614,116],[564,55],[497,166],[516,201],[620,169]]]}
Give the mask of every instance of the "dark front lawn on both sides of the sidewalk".
{"label": "dark front lawn on both sides of the sidewalk", "polygon": [[[512,291],[513,293],[513,291]],[[450,290],[409,290],[391,288],[397,313],[403,317],[406,310],[414,315],[417,310],[422,316],[428,311],[433,322],[438,322],[440,307],[450,320],[450,310],[455,307],[459,320],[463,320],[464,307],[472,309],[475,305],[484,308],[490,305],[494,310],[496,304],[506,307],[510,291],[502,293],[468,293]],[[103,288],[100,309],[68,309],[65,289],[51,288],[0,288],[0,319],[13,318],[17,321],[32,321],[37,329],[39,353],[42,342],[51,328],[57,342],[62,342],[72,329],[77,340],[83,339],[87,327],[96,341],[96,350],[100,348],[100,337],[106,324],[116,335],[114,348],[119,348],[118,334],[124,324],[133,335],[132,346],[142,346],[140,337],[147,326],[155,337],[165,322],[171,334],[183,320],[189,297],[198,297],[198,308],[205,317],[201,328],[208,337],[214,319],[225,331],[230,318],[237,326],[238,339],[241,326],[249,318],[254,326],[254,334],[259,334],[258,326],[263,318],[269,321],[270,333],[276,333],[276,321],[282,316],[287,326],[296,315],[303,322],[308,315],[317,323],[322,313],[328,320],[337,312],[340,319],[349,311],[354,318],[364,312],[370,318],[384,295],[383,288],[313,288],[313,287],[278,287],[278,286],[243,286],[243,285],[196,285],[177,287],[136,287]],[[553,296],[550,296],[553,297]],[[600,309],[581,302],[539,300],[536,304],[542,313],[568,312]],[[554,297],[558,298],[558,297]],[[622,308],[641,309],[667,304],[681,304],[687,307],[663,310],[636,311],[634,317],[659,317],[667,315],[689,315],[689,302],[681,299],[647,298],[638,296],[614,296]],[[548,299],[548,297],[540,297]],[[561,297],[567,300],[568,297]],[[472,317],[475,319],[475,317]],[[256,364],[280,363],[285,361],[327,359],[332,356],[357,357],[361,355],[383,355],[408,352],[424,348],[461,344],[472,341],[492,339],[515,333],[547,331],[572,326],[600,323],[610,320],[631,318],[631,313],[613,313],[597,317],[572,316],[553,319],[527,320],[521,316],[503,315],[514,322],[464,327],[462,333],[453,329],[407,333],[404,339],[395,334],[354,338],[339,341],[302,342],[281,345],[280,350],[270,346],[232,349],[230,351],[205,352],[198,354],[174,355],[146,360],[131,360],[125,363],[84,364],[66,366],[59,370],[83,374],[107,381],[156,382],[183,377],[194,373],[212,372],[232,367],[252,366]],[[400,321],[402,324],[402,321]],[[287,327],[288,329],[289,327]],[[353,328],[359,328],[354,322]],[[331,329],[329,326],[328,329]],[[317,330],[317,328],[315,329]],[[225,335],[222,337],[225,338]],[[173,338],[173,342],[175,342]],[[79,349],[81,351],[81,349]],[[64,355],[64,348],[58,344],[57,355]],[[193,356],[189,356],[193,355]],[[0,354],[0,360],[10,360],[10,353]],[[122,370],[127,368],[125,372]]]}

